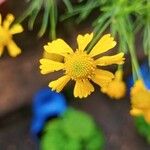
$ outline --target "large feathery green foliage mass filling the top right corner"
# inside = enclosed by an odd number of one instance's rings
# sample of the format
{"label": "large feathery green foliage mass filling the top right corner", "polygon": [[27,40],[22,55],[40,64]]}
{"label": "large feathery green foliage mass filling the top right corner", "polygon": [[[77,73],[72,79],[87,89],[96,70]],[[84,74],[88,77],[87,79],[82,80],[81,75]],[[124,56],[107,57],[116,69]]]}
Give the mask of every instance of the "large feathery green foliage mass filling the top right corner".
{"label": "large feathery green foliage mass filling the top right corner", "polygon": [[[90,51],[106,29],[110,29],[113,36],[118,37],[119,51],[130,53],[133,78],[141,78],[136,57],[135,32],[143,31],[143,48],[149,56],[150,62],[150,1],[149,0],[83,0],[72,6],[71,11],[66,12],[62,19],[77,16],[77,22],[88,19],[89,14],[99,8],[99,15],[92,22],[94,27],[94,39],[87,49]],[[136,29],[136,30],[135,30]]]}

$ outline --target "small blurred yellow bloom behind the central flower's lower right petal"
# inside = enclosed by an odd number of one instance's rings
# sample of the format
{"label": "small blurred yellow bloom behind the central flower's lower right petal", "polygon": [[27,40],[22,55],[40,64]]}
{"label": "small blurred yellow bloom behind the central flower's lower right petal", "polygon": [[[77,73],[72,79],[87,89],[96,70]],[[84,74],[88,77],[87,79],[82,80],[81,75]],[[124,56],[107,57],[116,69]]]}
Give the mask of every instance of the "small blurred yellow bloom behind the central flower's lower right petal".
{"label": "small blurred yellow bloom behind the central flower's lower right petal", "polygon": [[122,80],[123,72],[121,70],[116,71],[115,78],[106,87],[103,87],[101,91],[114,99],[120,99],[125,96],[126,85]]}

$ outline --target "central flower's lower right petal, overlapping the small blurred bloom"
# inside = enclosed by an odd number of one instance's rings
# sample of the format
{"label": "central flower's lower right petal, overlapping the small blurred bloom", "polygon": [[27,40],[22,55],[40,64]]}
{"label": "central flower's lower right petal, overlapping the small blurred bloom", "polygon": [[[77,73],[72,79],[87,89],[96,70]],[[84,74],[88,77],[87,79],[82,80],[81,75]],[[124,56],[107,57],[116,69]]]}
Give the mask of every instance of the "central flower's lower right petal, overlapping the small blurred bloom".
{"label": "central flower's lower right petal, overlapping the small blurred bloom", "polygon": [[95,75],[92,77],[92,81],[98,84],[100,87],[108,86],[112,81],[114,75],[106,70],[97,69]]}

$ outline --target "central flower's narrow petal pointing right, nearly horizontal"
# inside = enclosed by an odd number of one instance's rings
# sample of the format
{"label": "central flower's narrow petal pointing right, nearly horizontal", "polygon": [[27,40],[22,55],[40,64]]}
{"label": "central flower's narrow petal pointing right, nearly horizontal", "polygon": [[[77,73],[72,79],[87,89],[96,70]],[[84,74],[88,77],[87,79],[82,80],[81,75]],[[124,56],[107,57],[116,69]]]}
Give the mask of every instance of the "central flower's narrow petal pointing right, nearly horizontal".
{"label": "central flower's narrow petal pointing right, nearly horizontal", "polygon": [[103,56],[96,60],[97,65],[107,66],[112,64],[121,65],[124,63],[125,58],[123,57],[124,53],[119,53],[113,56]]}

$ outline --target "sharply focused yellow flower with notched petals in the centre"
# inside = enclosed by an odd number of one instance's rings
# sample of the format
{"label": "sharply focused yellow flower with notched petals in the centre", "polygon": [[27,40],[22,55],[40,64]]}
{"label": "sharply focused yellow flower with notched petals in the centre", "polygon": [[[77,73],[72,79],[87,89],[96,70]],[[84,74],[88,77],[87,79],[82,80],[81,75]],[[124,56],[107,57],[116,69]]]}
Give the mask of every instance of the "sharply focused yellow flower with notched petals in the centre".
{"label": "sharply focused yellow flower with notched petals in the centre", "polygon": [[[84,98],[94,91],[94,87],[90,81],[97,83],[103,87],[108,85],[114,78],[114,75],[106,70],[99,69],[98,66],[107,66],[111,64],[123,64],[124,54],[119,53],[114,56],[103,56],[95,58],[116,45],[110,34],[104,35],[88,54],[85,50],[86,46],[93,38],[93,33],[78,35],[78,49],[74,52],[69,45],[62,39],[57,39],[44,46],[47,53],[63,56],[63,61],[56,59],[41,59],[40,69],[42,74],[63,70],[64,75],[59,79],[49,83],[52,90],[60,92],[69,80],[74,80],[74,96]],[[56,55],[55,55],[56,56]]]}

